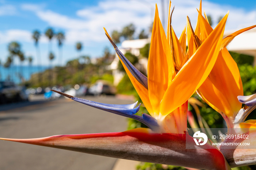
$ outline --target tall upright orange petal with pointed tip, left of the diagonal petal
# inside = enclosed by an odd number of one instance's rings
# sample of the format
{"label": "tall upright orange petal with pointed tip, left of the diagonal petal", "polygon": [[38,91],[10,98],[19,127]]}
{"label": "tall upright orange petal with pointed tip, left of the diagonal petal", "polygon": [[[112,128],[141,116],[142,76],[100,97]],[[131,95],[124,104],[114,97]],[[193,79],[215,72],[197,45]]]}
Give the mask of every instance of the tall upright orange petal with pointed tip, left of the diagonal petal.
{"label": "tall upright orange petal with pointed tip, left of the diagonal petal", "polygon": [[156,6],[150,53],[148,57],[148,96],[153,112],[157,114],[159,113],[159,105],[163,94],[168,86],[168,65],[171,60],[170,48]]}

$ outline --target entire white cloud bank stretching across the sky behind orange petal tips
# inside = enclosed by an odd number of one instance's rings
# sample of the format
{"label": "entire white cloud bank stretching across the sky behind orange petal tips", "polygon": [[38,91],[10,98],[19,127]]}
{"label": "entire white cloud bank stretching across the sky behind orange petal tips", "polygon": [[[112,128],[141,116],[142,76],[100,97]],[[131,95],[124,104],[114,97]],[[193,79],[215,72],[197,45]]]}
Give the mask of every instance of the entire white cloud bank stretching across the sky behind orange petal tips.
{"label": "entire white cloud bank stretching across the sky behind orange petal tips", "polygon": [[[144,3],[143,3],[144,2]],[[147,29],[153,21],[155,1],[134,0],[106,0],[100,1],[97,6],[86,7],[76,12],[77,18],[70,18],[54,11],[44,10],[42,5],[24,4],[24,10],[34,11],[36,15],[47,22],[52,27],[64,29],[66,32],[66,43],[74,43],[78,40],[88,42],[107,41],[102,27],[106,27],[109,32],[121,30],[129,23],[135,24],[137,30]],[[175,5],[172,25],[177,36],[186,25],[187,15],[191,19],[192,26],[195,26],[197,19],[196,8],[199,8],[199,0],[173,0]],[[162,19],[162,5],[157,1],[159,17]],[[168,4],[165,6],[165,22],[167,22]],[[250,26],[256,23],[256,11],[246,12],[243,9],[224,6],[203,1],[203,9],[207,15],[212,16],[214,23],[217,23],[219,16],[224,16],[230,10],[229,18],[226,24],[226,30],[235,30],[240,27]],[[166,23],[165,23],[166,26]],[[214,27],[216,24],[214,24]]]}

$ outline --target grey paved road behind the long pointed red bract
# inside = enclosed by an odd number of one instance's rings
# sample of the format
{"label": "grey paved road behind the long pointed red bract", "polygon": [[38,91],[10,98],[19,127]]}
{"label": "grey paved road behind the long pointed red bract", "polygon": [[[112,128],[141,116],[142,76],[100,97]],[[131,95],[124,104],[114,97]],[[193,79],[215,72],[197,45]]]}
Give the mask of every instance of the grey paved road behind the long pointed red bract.
{"label": "grey paved road behind the long pointed red bract", "polygon": [[[115,97],[86,97],[131,104]],[[0,106],[0,137],[39,138],[61,134],[124,131],[127,119],[69,99]],[[0,170],[111,170],[116,159],[23,143],[0,141]]]}

